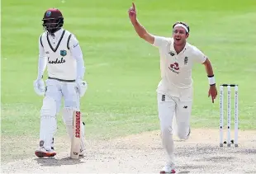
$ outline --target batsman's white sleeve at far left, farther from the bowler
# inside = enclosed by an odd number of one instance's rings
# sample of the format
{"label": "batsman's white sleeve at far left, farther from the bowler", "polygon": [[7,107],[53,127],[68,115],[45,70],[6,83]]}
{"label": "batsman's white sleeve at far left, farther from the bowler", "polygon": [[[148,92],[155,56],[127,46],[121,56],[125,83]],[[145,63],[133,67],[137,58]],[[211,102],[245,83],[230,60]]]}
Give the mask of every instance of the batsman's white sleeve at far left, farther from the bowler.
{"label": "batsman's white sleeve at far left, farther from the bowler", "polygon": [[41,35],[39,38],[39,58],[38,58],[38,66],[37,66],[37,79],[43,77],[45,73],[45,68],[47,65],[47,57],[45,55],[45,49],[42,45]]}

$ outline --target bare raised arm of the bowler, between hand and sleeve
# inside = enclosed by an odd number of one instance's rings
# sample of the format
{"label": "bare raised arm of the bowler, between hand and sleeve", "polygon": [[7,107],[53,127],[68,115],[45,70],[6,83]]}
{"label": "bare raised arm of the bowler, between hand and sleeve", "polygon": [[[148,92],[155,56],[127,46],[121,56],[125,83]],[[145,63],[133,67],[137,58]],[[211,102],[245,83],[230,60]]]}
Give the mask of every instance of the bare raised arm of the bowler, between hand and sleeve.
{"label": "bare raised arm of the bowler, between hand and sleeve", "polygon": [[131,23],[140,38],[146,40],[151,45],[154,44],[154,35],[151,35],[148,31],[146,31],[145,27],[142,26],[137,19],[135,21],[132,21]]}

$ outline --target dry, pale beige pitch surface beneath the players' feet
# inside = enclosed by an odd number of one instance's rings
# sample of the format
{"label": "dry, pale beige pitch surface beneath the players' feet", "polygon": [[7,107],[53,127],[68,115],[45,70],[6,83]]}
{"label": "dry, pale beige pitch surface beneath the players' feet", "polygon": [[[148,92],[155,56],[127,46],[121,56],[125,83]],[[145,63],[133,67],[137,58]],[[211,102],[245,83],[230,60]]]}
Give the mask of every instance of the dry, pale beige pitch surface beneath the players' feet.
{"label": "dry, pale beige pitch surface beneath the players' feet", "polygon": [[[177,173],[256,173],[256,131],[239,130],[239,148],[220,148],[218,135],[217,129],[192,129],[187,141],[176,139]],[[87,147],[79,160],[69,159],[67,149],[56,158],[2,163],[1,173],[158,173],[165,163],[159,131],[88,141]]]}

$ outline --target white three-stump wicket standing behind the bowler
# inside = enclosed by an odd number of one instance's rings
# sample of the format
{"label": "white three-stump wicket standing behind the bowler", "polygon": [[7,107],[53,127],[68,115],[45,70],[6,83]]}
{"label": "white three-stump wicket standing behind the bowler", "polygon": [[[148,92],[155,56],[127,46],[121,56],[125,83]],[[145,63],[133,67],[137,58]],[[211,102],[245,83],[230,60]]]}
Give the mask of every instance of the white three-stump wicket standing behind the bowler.
{"label": "white three-stump wicket standing behind the bowler", "polygon": [[[223,147],[223,118],[224,118],[224,87],[227,87],[227,147],[231,146],[231,143],[235,143],[235,147],[238,147],[238,85],[236,84],[222,84],[220,85],[220,147]],[[230,140],[230,127],[231,127],[231,87],[235,87],[235,138],[234,142]]]}

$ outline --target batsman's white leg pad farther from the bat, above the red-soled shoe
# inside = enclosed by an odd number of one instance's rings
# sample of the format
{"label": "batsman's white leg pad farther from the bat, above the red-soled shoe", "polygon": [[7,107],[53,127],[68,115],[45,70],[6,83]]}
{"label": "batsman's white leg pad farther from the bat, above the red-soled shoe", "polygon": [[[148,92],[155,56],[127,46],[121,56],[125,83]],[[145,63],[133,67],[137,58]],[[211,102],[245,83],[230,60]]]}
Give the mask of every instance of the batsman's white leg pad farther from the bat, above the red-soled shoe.
{"label": "batsman's white leg pad farther from the bat, above the red-soled shoe", "polygon": [[40,111],[40,147],[50,150],[56,130],[56,102],[53,98],[45,96]]}

